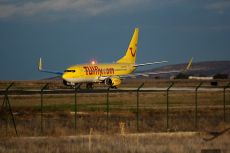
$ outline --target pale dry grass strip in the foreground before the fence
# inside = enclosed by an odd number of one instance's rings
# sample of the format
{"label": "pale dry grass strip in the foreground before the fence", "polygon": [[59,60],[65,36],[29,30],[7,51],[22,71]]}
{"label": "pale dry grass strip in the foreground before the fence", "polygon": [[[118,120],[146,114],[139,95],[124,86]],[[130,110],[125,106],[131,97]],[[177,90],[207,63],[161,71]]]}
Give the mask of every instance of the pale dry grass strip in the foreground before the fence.
{"label": "pale dry grass strip in the foreground before the fence", "polygon": [[207,133],[146,133],[131,135],[93,135],[71,137],[4,138],[0,152],[7,153],[197,153],[202,149],[220,149],[228,153],[230,134],[204,141]]}

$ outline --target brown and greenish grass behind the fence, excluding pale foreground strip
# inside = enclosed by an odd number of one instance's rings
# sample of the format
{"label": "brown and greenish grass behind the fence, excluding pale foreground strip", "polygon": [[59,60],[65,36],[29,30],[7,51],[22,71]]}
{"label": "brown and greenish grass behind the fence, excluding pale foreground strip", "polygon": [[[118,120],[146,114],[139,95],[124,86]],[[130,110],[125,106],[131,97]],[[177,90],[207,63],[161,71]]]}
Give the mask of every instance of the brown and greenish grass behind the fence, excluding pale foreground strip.
{"label": "brown and greenish grass behind the fence, excluding pale foreground strip", "polygon": [[[19,82],[17,86],[24,88],[33,85],[41,86],[41,82]],[[132,80],[130,80],[130,85]],[[150,81],[149,81],[150,82]],[[223,81],[224,82],[224,81]],[[223,84],[223,82],[221,82]],[[226,82],[226,81],[225,81]],[[23,84],[24,83],[24,84]],[[60,82],[52,82],[53,85]],[[152,81],[157,86],[166,85],[169,81]],[[8,82],[0,82],[7,85]],[[181,86],[195,85],[196,81],[177,81]],[[208,82],[206,82],[208,84]],[[77,95],[77,132],[87,134],[90,128],[99,133],[119,131],[119,123],[124,122],[128,132],[136,132],[136,93],[110,93],[109,118],[106,116],[106,93],[78,94]],[[74,134],[74,95],[58,94],[44,95],[43,107],[43,135],[64,136]],[[226,94],[227,124],[230,122],[229,90]],[[40,95],[9,96],[17,129],[21,136],[41,135]],[[199,92],[198,93],[198,129],[194,127],[195,115],[194,92],[170,92],[169,93],[169,129],[166,127],[166,93],[150,92],[140,93],[139,127],[141,132],[162,131],[206,131],[223,127],[223,93]],[[3,101],[3,96],[0,97]],[[0,120],[0,135],[6,135],[5,122]],[[25,130],[26,129],[26,130]],[[14,135],[12,122],[9,122],[8,135]]]}

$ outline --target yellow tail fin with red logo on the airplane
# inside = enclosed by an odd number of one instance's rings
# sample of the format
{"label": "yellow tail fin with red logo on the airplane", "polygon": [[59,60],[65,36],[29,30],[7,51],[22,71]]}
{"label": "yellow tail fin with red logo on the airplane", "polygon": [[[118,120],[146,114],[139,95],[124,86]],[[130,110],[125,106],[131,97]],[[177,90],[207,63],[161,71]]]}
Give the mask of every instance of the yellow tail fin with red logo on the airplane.
{"label": "yellow tail fin with red logo on the airplane", "polygon": [[138,43],[138,32],[139,29],[135,28],[133,37],[129,43],[129,47],[126,51],[125,56],[117,61],[117,63],[131,63],[135,64],[136,62],[136,53],[137,53],[137,43]]}

